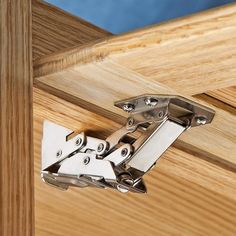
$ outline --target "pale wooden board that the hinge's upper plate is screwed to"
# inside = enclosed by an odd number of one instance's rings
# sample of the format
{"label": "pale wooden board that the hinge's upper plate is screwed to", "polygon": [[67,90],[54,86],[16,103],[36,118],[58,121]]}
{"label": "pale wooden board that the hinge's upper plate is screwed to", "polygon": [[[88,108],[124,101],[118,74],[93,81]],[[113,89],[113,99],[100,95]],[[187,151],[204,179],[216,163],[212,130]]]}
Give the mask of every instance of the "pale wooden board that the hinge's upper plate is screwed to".
{"label": "pale wooden board that the hinge's upper plate is screwed to", "polygon": [[[128,114],[114,107],[115,101],[145,93],[177,94],[111,59],[74,66],[37,78],[35,85],[123,124]],[[211,106],[216,115],[212,124],[190,129],[181,135],[178,139],[179,147],[204,154],[209,160],[217,160],[235,168],[236,117],[204,101],[193,97],[190,99]]]}

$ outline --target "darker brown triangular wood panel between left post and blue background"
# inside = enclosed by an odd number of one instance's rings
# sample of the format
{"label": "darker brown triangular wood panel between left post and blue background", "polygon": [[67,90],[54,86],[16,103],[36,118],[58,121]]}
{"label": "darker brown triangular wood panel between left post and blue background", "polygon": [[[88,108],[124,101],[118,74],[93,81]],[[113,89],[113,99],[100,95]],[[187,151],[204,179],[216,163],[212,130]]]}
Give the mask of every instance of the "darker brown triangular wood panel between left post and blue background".
{"label": "darker brown triangular wood panel between left post and blue background", "polygon": [[111,35],[43,1],[32,1],[33,59]]}

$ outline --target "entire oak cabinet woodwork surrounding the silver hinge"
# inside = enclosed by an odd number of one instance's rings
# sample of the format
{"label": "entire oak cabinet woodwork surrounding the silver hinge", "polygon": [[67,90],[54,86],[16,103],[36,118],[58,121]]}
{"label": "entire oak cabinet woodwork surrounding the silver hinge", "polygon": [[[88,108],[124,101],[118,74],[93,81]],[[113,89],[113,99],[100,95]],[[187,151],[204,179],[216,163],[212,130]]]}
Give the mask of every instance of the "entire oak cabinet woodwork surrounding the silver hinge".
{"label": "entire oak cabinet woodwork surrounding the silver hinge", "polygon": [[[77,235],[82,221],[80,233],[89,228],[91,236],[122,235],[117,221],[130,235],[132,227],[146,235],[236,233],[235,4],[112,36],[42,1],[0,3],[1,235]],[[144,93],[181,94],[216,110],[211,125],[184,134],[164,155],[147,178],[148,200],[64,195],[40,182],[44,119],[104,137],[126,118],[113,102]],[[84,218],[73,211],[78,199]],[[127,215],[119,213],[124,204]]]}

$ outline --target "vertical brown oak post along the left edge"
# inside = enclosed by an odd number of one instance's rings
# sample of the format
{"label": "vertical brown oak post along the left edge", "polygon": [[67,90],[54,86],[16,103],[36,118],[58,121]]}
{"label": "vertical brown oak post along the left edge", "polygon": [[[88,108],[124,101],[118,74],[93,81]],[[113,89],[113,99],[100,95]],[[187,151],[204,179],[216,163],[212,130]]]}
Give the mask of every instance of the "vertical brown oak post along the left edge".
{"label": "vertical brown oak post along the left edge", "polygon": [[31,1],[0,1],[0,235],[34,235]]}

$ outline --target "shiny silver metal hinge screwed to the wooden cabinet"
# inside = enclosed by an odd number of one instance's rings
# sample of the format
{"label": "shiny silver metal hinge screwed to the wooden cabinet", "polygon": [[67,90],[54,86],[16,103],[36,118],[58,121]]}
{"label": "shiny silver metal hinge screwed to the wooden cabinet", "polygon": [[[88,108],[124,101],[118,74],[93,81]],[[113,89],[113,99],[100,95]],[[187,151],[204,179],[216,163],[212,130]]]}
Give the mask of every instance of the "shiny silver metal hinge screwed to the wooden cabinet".
{"label": "shiny silver metal hinge screwed to the wooden cabinet", "polygon": [[115,103],[129,113],[125,126],[105,140],[72,135],[44,122],[42,179],[60,189],[69,186],[114,188],[145,193],[143,175],[190,127],[211,123],[214,111],[180,96],[144,95]]}

